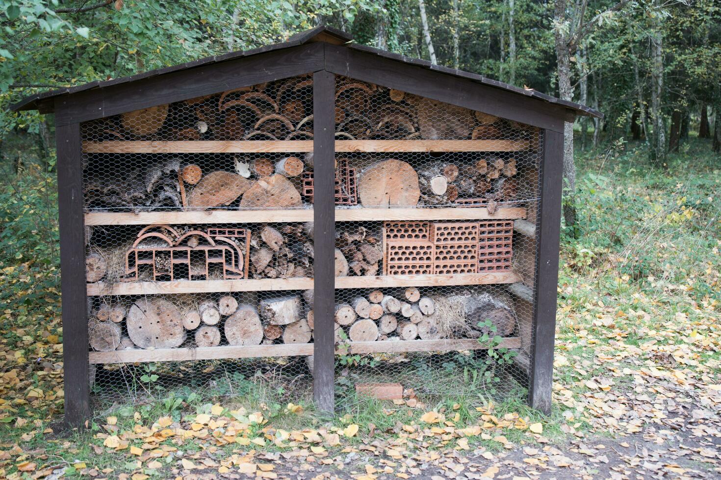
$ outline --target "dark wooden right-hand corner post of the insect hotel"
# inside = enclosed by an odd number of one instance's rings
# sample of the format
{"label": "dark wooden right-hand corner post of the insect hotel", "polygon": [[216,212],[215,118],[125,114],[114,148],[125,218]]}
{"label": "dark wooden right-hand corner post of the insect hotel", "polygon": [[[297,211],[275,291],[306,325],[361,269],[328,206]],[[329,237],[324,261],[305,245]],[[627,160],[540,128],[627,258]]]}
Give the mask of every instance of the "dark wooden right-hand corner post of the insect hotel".
{"label": "dark wooden right-hand corner post of the insect hotel", "polygon": [[536,235],[536,309],[531,353],[531,407],[551,412],[553,349],[556,333],[558,253],[563,184],[563,134],[544,130],[541,210]]}

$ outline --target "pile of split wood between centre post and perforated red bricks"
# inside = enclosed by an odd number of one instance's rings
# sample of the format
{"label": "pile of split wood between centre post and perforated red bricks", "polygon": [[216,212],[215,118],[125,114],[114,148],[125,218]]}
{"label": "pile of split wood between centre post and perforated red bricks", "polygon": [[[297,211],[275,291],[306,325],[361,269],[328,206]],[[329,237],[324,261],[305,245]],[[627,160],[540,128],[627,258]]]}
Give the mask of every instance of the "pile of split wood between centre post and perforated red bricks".
{"label": "pile of split wood between centre post and perforated red bricks", "polygon": [[[352,231],[343,230],[336,237],[337,270],[345,275],[366,276],[377,275],[380,261],[383,259],[379,238],[368,235],[366,227],[355,227]],[[348,269],[342,268],[344,262]],[[336,276],[345,276],[338,274]]]}

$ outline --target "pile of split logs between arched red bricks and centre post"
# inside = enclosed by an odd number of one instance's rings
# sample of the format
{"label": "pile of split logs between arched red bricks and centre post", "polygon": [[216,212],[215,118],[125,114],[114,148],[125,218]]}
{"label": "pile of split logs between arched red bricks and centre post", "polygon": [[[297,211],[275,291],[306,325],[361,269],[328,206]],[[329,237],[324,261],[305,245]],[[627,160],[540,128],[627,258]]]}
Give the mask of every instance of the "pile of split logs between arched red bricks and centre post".
{"label": "pile of split logs between arched red bricks and centre post", "polygon": [[250,237],[253,279],[290,279],[312,275],[313,242],[302,225],[264,225]]}

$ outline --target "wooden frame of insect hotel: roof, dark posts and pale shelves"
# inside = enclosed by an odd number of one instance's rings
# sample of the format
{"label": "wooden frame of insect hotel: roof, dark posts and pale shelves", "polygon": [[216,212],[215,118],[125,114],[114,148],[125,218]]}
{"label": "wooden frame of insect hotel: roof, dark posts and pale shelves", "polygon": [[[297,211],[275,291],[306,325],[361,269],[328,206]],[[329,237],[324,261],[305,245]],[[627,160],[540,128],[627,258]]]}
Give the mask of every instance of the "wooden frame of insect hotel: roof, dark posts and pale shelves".
{"label": "wooden frame of insect hotel: roof, dark posts and pale shelves", "polygon": [[[317,27],[291,37],[288,42],[247,52],[218,57],[141,73],[129,78],[93,82],[84,86],[36,94],[12,107],[14,110],[38,109],[56,115],[58,148],[58,202],[61,235],[61,268],[63,296],[63,330],[65,332],[65,412],[69,425],[79,426],[89,419],[89,386],[91,363],[105,361],[143,361],[147,351],[88,351],[88,312],[86,297],[113,293],[164,293],[172,291],[252,291],[308,289],[315,291],[315,339],[312,345],[258,345],[256,347],[198,348],[192,358],[242,358],[249,356],[314,355],[314,400],[321,409],[334,407],[333,338],[335,289],[368,286],[423,286],[454,284],[507,284],[516,302],[531,307],[533,350],[528,366],[529,403],[549,412],[551,407],[556,285],[558,274],[560,199],[562,186],[562,150],[564,123],[578,114],[600,116],[588,107],[554,99],[527,89],[518,89],[472,73],[431,65],[416,60],[351,44],[344,32]],[[313,140],[278,142],[213,141],[213,142],[81,142],[81,122],[108,117],[136,109],[153,107],[218,91],[235,89],[255,83],[278,80],[301,74],[313,75]],[[539,128],[544,139],[541,158],[541,206],[535,219],[526,219],[523,208],[505,207],[490,211],[486,207],[470,208],[399,208],[337,210],[334,204],[336,152],[363,151],[483,151],[486,140],[335,140],[334,86],[336,76],[347,76],[391,89],[443,101],[458,107],[523,122]],[[496,144],[494,150],[507,148]],[[130,148],[131,150],[128,150]],[[261,210],[253,212],[147,212],[105,213],[84,212],[82,181],[83,151],[92,152],[314,152],[314,208],[301,211]],[[474,273],[428,276],[373,276],[334,278],[333,253],[335,222],[354,220],[443,220],[443,219],[515,219],[516,232],[529,235],[536,249],[535,285],[531,289],[515,272]],[[149,225],[154,223],[247,223],[314,221],[316,232],[314,278],[286,280],[209,280],[201,286],[86,284],[84,268],[84,225]],[[523,223],[520,223],[523,222]],[[423,345],[418,342],[425,342]],[[461,345],[462,343],[462,345]],[[370,343],[369,343],[370,344]],[[446,345],[436,340],[407,342],[373,342],[373,345],[352,346],[353,352],[443,350]],[[478,348],[477,343],[461,340],[458,348]],[[509,338],[504,345],[518,348],[518,339]],[[263,350],[265,349],[265,351]],[[187,350],[187,349],[185,349]],[[154,360],[190,358],[184,349],[154,350]]]}

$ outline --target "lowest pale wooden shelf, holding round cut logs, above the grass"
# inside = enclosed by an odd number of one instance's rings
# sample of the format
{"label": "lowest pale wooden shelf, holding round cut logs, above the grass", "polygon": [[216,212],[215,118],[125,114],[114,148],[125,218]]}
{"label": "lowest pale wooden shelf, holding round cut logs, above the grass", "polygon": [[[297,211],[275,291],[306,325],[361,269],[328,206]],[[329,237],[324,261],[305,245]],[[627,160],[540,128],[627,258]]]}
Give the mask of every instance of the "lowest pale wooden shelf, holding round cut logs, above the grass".
{"label": "lowest pale wooden shelf, holding round cut logs, above the grass", "polygon": [[[402,353],[434,352],[449,350],[482,350],[488,345],[474,338],[461,340],[384,340],[379,342],[355,342],[339,345],[338,355],[348,353]],[[521,348],[521,339],[504,338],[497,348]],[[156,361],[221,360],[231,358],[287,357],[313,355],[312,343],[293,345],[252,345],[201,348],[160,348],[158,350],[117,350],[112,352],[90,352],[90,363],[136,363]]]}

